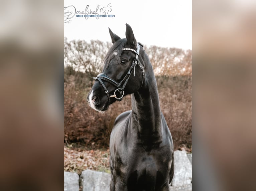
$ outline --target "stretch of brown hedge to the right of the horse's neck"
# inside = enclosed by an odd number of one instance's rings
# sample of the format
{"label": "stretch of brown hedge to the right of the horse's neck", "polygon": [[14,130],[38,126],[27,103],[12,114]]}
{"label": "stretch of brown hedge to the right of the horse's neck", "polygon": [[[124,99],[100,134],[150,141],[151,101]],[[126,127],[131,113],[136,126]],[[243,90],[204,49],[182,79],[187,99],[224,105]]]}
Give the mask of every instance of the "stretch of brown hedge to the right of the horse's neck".
{"label": "stretch of brown hedge to the right of the horse's neck", "polygon": [[171,131],[174,148],[192,146],[191,76],[157,77],[160,106]]}

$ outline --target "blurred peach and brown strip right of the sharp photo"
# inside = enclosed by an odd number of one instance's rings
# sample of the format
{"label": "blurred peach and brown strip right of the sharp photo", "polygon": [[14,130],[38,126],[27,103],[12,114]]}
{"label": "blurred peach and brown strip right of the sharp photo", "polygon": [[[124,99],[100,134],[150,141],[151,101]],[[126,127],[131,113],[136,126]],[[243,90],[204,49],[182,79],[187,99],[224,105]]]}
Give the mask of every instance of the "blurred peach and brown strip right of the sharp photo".
{"label": "blurred peach and brown strip right of the sharp photo", "polygon": [[195,190],[256,190],[255,5],[193,1]]}

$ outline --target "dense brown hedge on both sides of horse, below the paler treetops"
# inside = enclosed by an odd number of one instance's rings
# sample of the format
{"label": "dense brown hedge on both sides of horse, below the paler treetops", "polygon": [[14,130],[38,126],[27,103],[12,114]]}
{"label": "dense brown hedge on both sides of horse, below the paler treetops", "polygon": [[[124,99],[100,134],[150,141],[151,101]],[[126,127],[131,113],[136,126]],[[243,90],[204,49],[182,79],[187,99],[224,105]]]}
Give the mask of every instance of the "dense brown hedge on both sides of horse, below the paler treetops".
{"label": "dense brown hedge on both sides of horse, below the paler treetops", "polygon": [[[98,113],[86,100],[93,81],[87,81],[83,75],[76,72],[75,75],[65,76],[65,138],[68,142],[93,144],[95,148],[108,147],[115,118],[131,109],[131,96],[113,103],[106,113]],[[189,150],[192,143],[191,76],[160,76],[156,79],[161,110],[171,131],[174,148],[185,147]],[[85,82],[89,87],[83,87]]]}

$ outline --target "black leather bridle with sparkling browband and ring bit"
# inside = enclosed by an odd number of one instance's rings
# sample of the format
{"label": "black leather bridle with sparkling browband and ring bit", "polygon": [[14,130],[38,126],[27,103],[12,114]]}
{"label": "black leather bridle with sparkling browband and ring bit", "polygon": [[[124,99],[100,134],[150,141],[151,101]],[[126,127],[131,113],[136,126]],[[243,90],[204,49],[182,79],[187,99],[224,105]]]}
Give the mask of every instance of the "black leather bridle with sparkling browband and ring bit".
{"label": "black leather bridle with sparkling browband and ring bit", "polygon": [[[139,64],[138,62],[138,57],[139,57],[139,52],[140,52],[140,45],[137,44],[137,50],[131,49],[131,48],[123,48],[122,50],[126,50],[126,51],[133,51],[136,55],[135,58],[128,70],[128,72],[126,73],[125,77],[123,78],[123,80],[121,80],[119,83],[117,81],[115,81],[114,79],[110,78],[109,76],[107,76],[106,74],[100,73],[98,74],[97,77],[94,77],[93,79],[96,79],[100,82],[100,84],[102,85],[102,87],[104,88],[105,93],[108,96],[108,101],[110,102],[110,97],[115,97],[118,101],[121,101],[123,96],[124,96],[124,88],[132,74],[133,71],[133,75],[135,76],[135,67],[138,64],[140,66],[140,69],[142,70],[143,76],[144,76],[144,70],[143,67]],[[143,84],[143,76],[142,76],[142,84]],[[115,87],[117,87],[117,89],[115,90],[113,95],[109,95],[108,89],[106,88],[106,86],[104,85],[103,81],[106,81],[112,85],[114,85]],[[122,85],[123,84],[123,85]],[[142,85],[141,84],[141,85]],[[120,97],[117,97],[116,92],[118,91],[118,93],[121,95]]]}

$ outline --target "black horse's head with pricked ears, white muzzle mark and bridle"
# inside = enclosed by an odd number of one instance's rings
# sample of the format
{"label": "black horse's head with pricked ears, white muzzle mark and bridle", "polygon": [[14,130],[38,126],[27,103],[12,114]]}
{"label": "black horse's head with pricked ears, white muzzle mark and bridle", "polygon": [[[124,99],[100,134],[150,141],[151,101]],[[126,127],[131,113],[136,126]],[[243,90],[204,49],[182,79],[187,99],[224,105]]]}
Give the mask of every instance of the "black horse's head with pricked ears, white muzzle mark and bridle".
{"label": "black horse's head with pricked ears, white muzzle mark and bridle", "polygon": [[109,33],[113,45],[103,60],[102,73],[95,78],[87,96],[90,106],[97,111],[107,110],[116,100],[138,91],[143,83],[144,69],[138,59],[140,45],[130,25],[126,24],[126,38],[121,39],[110,29]]}

